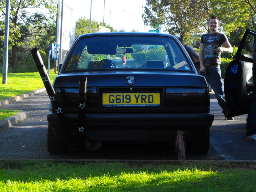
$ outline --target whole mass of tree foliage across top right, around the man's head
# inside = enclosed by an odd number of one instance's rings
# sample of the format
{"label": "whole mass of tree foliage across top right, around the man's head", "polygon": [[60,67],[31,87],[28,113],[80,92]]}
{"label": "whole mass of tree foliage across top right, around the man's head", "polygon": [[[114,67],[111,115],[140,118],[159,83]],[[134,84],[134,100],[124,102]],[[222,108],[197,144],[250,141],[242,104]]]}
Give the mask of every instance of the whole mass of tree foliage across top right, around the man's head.
{"label": "whole mass of tree foliage across top right, around the man's head", "polygon": [[[142,19],[146,25],[164,25],[169,34],[189,38],[209,33],[211,15],[221,21],[220,31],[241,37],[246,28],[256,30],[256,0],[147,0]],[[243,30],[241,30],[243,29]]]}

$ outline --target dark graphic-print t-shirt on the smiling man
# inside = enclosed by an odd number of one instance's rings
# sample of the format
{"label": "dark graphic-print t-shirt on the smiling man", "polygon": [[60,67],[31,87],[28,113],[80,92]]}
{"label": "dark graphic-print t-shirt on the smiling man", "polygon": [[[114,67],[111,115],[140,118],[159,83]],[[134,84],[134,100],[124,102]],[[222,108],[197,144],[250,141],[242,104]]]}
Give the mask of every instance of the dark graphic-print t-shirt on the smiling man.
{"label": "dark graphic-print t-shirt on the smiling man", "polygon": [[216,33],[210,36],[209,33],[202,35],[200,43],[204,44],[204,64],[220,64],[221,53],[215,53],[215,47],[222,47],[222,44],[228,41],[228,37],[222,33]]}

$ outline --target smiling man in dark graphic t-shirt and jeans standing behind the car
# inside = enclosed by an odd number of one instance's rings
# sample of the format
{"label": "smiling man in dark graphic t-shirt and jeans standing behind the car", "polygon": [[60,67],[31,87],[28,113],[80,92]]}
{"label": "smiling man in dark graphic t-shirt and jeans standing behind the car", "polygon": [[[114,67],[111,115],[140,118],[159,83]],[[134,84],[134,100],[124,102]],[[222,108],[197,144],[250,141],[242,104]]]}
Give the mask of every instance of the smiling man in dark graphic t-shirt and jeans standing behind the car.
{"label": "smiling man in dark graphic t-shirt and jeans standing behind the car", "polygon": [[[224,84],[220,72],[221,52],[232,53],[233,48],[227,36],[218,31],[220,22],[217,17],[214,15],[210,17],[208,26],[210,27],[210,33],[203,34],[200,41],[199,59],[201,68],[199,74],[203,75],[211,85],[218,103],[223,109],[222,113],[225,118],[227,120],[234,120],[233,117],[228,115]],[[222,44],[225,47],[222,47]]]}

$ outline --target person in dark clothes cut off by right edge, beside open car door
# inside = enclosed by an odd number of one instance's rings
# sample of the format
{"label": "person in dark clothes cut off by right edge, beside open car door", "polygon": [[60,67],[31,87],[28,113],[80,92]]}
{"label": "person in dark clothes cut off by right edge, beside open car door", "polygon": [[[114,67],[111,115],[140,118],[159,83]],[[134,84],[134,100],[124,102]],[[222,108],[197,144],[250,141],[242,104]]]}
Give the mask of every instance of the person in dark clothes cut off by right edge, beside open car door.
{"label": "person in dark clothes cut off by right edge, beside open car door", "polygon": [[247,124],[246,124],[246,140],[256,141],[256,37],[254,37],[254,54],[252,63],[253,90],[252,101],[249,108]]}

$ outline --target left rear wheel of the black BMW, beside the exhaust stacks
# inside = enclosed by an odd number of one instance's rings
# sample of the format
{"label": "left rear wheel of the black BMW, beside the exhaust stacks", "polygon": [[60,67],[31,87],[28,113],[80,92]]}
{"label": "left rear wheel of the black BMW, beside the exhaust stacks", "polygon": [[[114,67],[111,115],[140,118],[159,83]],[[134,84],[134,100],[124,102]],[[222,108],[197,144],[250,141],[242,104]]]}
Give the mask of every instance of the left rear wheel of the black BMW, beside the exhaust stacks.
{"label": "left rear wheel of the black BMW, beside the exhaust stacks", "polygon": [[52,131],[52,127],[48,125],[47,133],[47,149],[49,153],[53,154],[65,154],[68,153],[68,143],[64,141],[58,141]]}

